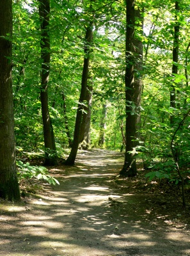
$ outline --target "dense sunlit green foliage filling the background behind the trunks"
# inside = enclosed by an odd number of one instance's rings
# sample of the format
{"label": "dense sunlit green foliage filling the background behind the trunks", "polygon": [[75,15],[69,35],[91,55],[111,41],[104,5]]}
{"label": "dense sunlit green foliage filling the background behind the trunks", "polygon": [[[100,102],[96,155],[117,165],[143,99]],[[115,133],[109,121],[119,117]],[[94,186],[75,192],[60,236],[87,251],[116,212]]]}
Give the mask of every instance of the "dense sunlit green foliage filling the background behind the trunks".
{"label": "dense sunlit green foliage filling the background behind the trunks", "polygon": [[[125,3],[124,1],[51,1],[49,109],[59,157],[65,157],[74,124],[84,59],[85,29],[93,5],[93,45],[90,52],[91,148],[125,147]],[[136,1],[143,13],[143,92],[141,141],[136,150],[149,177],[179,179],[177,162],[187,172],[190,163],[189,115],[189,1]],[[175,9],[178,2],[179,10]],[[13,90],[18,156],[44,152],[40,107],[40,20],[38,1],[13,1]],[[137,21],[138,22],[138,21]],[[178,41],[174,40],[178,26]],[[178,44],[178,61],[172,58]],[[173,74],[172,66],[177,67]],[[170,95],[175,93],[175,108]],[[135,115],[133,111],[129,115]],[[171,124],[170,118],[174,122]],[[175,134],[175,138],[173,138]],[[171,141],[173,143],[171,145]]]}

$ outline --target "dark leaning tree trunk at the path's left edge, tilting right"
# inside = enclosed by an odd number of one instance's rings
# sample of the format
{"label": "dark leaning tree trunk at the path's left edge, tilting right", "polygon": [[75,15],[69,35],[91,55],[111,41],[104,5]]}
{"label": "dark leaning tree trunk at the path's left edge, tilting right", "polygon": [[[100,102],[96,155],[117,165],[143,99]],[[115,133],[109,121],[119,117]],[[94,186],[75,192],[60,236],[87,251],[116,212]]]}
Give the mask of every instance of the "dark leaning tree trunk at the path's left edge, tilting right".
{"label": "dark leaning tree trunk at the path's left edge, tilting right", "polygon": [[68,164],[68,165],[73,165],[75,163],[77,150],[79,148],[81,124],[83,121],[84,104],[86,100],[87,80],[88,80],[88,71],[89,71],[89,63],[90,63],[90,45],[93,40],[92,31],[93,31],[93,22],[90,22],[89,26],[86,28],[86,35],[85,35],[85,42],[84,42],[85,55],[84,55],[83,75],[82,75],[82,82],[81,82],[81,95],[79,98],[77,116],[75,120],[74,140],[72,143],[72,149],[70,151],[70,155],[65,161],[65,164]]}

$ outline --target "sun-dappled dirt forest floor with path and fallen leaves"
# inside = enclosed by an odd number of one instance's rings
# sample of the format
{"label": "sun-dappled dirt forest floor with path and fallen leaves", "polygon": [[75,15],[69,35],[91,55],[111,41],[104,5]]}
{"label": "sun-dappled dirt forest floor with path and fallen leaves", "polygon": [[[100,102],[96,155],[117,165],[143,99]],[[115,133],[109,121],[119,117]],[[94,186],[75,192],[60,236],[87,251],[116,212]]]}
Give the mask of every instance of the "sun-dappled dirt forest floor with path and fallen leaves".
{"label": "sun-dappled dirt forest floor with path and fallen leaves", "polygon": [[75,166],[50,168],[60,185],[1,201],[0,255],[190,255],[180,189],[148,183],[140,168],[138,177],[116,177],[122,164],[121,153],[80,151]]}

